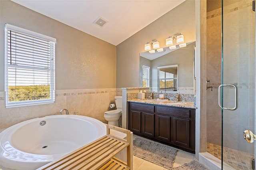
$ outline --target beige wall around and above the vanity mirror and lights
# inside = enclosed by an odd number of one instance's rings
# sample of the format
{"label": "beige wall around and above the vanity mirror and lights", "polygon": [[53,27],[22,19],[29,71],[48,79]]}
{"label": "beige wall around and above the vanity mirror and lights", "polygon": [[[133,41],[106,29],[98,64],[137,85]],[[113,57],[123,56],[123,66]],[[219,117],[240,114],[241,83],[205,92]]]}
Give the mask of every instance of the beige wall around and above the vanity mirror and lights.
{"label": "beige wall around and above the vanity mirror and lights", "polygon": [[166,47],[165,39],[184,34],[185,42],[196,41],[195,1],[186,0],[116,47],[116,87],[139,87],[140,52],[154,39]]}

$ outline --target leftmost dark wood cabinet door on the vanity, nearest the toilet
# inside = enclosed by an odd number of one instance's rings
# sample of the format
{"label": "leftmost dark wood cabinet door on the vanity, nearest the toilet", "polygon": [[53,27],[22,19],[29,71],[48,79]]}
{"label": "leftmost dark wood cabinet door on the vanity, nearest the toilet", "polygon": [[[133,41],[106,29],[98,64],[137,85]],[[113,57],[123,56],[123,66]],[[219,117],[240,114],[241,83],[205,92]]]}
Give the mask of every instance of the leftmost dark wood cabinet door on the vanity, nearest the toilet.
{"label": "leftmost dark wood cabinet door on the vanity, nearest the toilet", "polygon": [[141,133],[141,112],[129,112],[129,130],[136,133]]}

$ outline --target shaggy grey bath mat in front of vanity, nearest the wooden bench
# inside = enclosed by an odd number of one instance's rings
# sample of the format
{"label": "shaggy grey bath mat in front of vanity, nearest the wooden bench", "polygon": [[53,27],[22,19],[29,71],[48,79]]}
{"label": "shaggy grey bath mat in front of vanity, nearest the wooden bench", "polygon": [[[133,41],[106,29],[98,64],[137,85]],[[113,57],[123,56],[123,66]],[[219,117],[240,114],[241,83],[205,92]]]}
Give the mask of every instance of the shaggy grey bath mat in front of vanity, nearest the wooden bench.
{"label": "shaggy grey bath mat in front of vanity, nearest the wooden bench", "polygon": [[133,140],[133,155],[167,169],[172,169],[177,149],[139,137]]}

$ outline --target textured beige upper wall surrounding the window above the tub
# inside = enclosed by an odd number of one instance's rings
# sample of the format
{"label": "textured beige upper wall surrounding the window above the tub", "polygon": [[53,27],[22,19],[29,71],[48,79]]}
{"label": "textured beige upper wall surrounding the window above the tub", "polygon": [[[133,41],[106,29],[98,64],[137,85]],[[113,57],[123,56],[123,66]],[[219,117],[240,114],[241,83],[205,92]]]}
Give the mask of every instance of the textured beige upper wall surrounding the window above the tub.
{"label": "textured beige upper wall surrounding the window above the tub", "polygon": [[[4,91],[4,24],[57,39],[56,89],[116,87],[116,47],[10,0],[1,0],[1,81]],[[99,81],[100,80],[100,81]]]}

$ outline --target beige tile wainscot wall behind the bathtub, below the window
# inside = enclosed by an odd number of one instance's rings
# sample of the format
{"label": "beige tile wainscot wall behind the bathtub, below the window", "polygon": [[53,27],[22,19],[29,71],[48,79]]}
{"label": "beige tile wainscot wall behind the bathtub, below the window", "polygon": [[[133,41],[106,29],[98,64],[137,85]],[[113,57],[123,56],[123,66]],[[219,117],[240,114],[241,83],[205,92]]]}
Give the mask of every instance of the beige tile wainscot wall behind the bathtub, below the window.
{"label": "beige tile wainscot wall behind the bathtub, below the window", "polygon": [[56,90],[55,103],[25,107],[5,108],[5,92],[0,92],[0,128],[10,127],[16,123],[55,115],[61,109],[68,109],[70,114],[78,111],[77,115],[96,118],[104,123],[104,112],[110,110],[114,103],[116,88],[108,89],[73,89]]}

